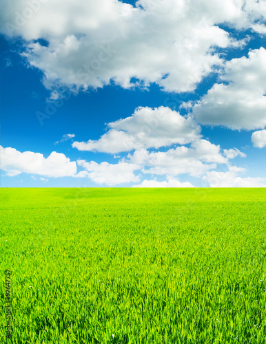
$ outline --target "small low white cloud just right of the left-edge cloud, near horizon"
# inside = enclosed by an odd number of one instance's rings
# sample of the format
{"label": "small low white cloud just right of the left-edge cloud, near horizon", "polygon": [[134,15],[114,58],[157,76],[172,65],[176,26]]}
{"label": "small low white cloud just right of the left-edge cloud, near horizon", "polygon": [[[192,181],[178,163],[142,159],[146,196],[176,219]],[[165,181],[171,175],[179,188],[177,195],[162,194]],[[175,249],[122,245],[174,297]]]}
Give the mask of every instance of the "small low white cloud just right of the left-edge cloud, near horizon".
{"label": "small low white cloud just right of the left-edge cloud, near horizon", "polygon": [[114,186],[116,184],[139,182],[139,176],[134,175],[134,171],[140,167],[136,164],[127,164],[119,162],[118,164],[109,164],[108,162],[87,162],[77,160],[77,164],[82,166],[86,171],[82,171],[79,177],[88,177],[96,184],[107,184]]}

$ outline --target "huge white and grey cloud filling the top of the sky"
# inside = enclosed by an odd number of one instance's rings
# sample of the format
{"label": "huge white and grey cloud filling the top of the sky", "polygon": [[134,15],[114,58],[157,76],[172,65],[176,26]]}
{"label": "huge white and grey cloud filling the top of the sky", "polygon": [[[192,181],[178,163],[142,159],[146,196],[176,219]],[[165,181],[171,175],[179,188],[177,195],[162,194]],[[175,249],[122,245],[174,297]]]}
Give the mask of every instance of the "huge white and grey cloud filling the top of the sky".
{"label": "huge white and grey cloud filling the top of the sky", "polygon": [[[139,0],[134,8],[117,0],[2,1],[1,30],[28,41],[24,55],[43,71],[46,87],[88,89],[112,81],[186,92],[221,65],[215,47],[243,44],[218,24],[263,33],[263,3]],[[40,38],[48,45],[31,41]]]}

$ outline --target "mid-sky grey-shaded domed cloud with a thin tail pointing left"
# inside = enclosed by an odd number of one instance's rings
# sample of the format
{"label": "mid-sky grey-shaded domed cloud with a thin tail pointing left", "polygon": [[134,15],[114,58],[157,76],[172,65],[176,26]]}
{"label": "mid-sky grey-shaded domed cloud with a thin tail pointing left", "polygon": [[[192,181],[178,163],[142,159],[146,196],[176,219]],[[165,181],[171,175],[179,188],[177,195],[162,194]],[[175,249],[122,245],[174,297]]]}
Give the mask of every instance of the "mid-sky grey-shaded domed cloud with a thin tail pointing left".
{"label": "mid-sky grey-shaded domed cloud with a thin tail pointing left", "polygon": [[200,138],[201,127],[168,107],[139,107],[125,119],[108,124],[109,131],[99,140],[74,142],[79,151],[120,153],[132,149],[187,144]]}

